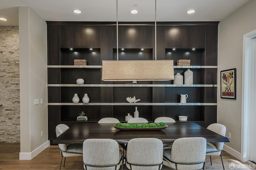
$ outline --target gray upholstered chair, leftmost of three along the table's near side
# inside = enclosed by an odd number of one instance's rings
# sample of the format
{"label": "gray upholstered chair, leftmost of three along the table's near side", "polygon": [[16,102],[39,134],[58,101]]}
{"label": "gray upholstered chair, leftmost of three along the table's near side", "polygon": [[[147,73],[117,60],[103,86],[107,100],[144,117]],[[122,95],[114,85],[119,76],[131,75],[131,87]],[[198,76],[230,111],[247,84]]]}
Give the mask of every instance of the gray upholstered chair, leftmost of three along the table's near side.
{"label": "gray upholstered chair, leftmost of three along the table's near side", "polygon": [[86,139],[83,143],[85,170],[118,170],[121,160],[122,151],[113,139]]}

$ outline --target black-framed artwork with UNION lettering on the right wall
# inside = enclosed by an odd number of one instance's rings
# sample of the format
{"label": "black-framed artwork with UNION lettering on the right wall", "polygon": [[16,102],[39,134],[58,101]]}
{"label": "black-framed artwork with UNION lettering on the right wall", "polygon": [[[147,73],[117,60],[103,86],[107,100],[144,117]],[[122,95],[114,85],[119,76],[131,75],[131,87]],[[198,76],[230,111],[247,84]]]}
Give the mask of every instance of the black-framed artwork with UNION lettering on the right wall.
{"label": "black-framed artwork with UNION lettering on the right wall", "polygon": [[236,99],[236,68],[220,71],[221,98]]}

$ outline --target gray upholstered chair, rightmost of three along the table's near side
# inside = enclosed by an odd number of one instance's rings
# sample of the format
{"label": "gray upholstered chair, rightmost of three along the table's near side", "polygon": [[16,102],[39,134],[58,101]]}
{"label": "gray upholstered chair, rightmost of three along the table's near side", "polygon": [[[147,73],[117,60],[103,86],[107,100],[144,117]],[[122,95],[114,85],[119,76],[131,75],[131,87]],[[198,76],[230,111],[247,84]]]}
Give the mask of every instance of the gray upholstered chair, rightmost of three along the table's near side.
{"label": "gray upholstered chair, rightmost of three along the table's near side", "polygon": [[174,141],[172,149],[164,150],[164,165],[176,170],[204,170],[205,156],[205,138],[180,138]]}

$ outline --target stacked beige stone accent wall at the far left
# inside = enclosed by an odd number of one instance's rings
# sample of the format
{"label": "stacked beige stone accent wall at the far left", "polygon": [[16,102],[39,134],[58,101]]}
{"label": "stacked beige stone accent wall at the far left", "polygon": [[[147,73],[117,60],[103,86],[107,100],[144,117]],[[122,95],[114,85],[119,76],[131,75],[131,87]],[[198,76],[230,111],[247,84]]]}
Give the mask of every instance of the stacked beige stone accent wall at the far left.
{"label": "stacked beige stone accent wall at the far left", "polygon": [[0,26],[0,142],[20,142],[19,27]]}

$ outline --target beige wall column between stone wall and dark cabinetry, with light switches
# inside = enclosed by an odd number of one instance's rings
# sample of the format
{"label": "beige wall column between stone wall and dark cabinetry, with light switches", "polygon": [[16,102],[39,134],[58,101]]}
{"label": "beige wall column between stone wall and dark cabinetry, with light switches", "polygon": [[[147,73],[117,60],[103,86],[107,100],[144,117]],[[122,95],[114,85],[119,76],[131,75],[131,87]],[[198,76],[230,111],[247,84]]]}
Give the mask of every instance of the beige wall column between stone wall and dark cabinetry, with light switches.
{"label": "beige wall column between stone wall and dark cabinetry, with light switches", "polygon": [[[47,25],[29,7],[19,7],[20,159],[32,159],[50,145],[47,111]],[[43,104],[40,99],[43,98]],[[34,105],[39,99],[39,105]],[[43,131],[43,137],[41,137]]]}

